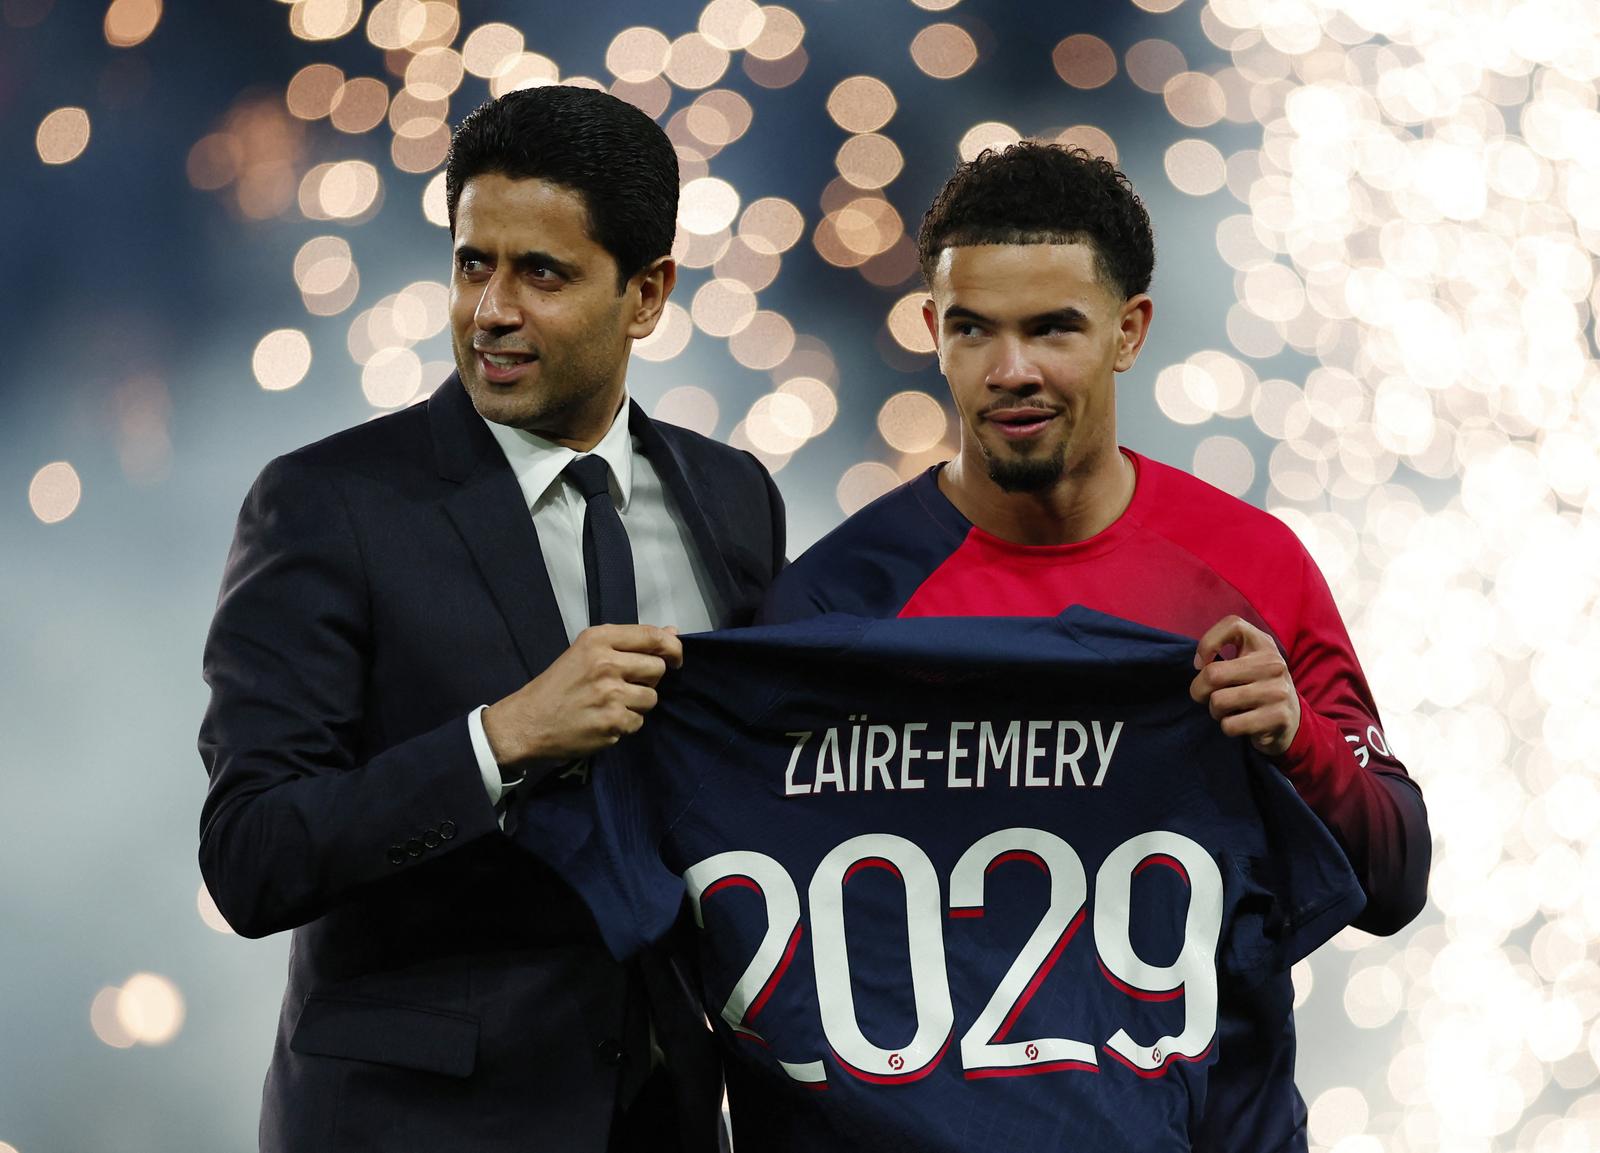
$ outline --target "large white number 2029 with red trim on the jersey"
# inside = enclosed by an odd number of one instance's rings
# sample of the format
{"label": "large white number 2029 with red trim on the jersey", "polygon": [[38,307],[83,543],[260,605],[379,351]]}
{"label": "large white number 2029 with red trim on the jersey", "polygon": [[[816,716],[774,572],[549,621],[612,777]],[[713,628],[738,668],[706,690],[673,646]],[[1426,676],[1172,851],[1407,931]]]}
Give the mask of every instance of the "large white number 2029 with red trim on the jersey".
{"label": "large white number 2029 with red trim on the jersey", "polygon": [[[1118,1028],[1101,1046],[1139,1076],[1160,1076],[1173,1060],[1200,1060],[1216,1039],[1216,945],[1222,928],[1222,875],[1203,846],[1173,832],[1139,833],[1101,862],[1091,889],[1083,860],[1054,833],[1042,828],[1002,828],[982,836],[950,870],[949,886],[920,846],[891,833],[853,836],[827,852],[811,876],[806,899],[811,912],[811,960],[816,969],[816,1009],[822,1036],[835,1062],[850,1075],[875,1083],[917,1081],[938,1067],[955,1035],[955,1011],[944,963],[944,900],[950,918],[984,913],[986,878],[1000,864],[1027,860],[1050,878],[1050,907],[1010,969],[989,995],[989,1003],[962,1035],[960,1063],[965,1079],[1026,1076],[1099,1067],[1096,1047],[1082,1039],[1042,1036],[1010,1041],[1013,1023],[1050,975],[1056,958],[1091,920],[1093,948],[1106,979],[1123,993],[1146,999],[1184,999],[1184,1027],[1178,1036],[1154,1044],[1134,1041]],[[1133,878],[1152,867],[1171,868],[1189,889],[1184,912],[1184,944],[1168,964],[1150,964],[1133,948]],[[845,937],[845,886],[867,868],[893,873],[904,884],[909,934],[910,993],[917,1028],[909,1044],[883,1049],[862,1033],[850,980],[850,942]],[[683,873],[694,921],[704,928],[702,902],[728,888],[762,894],[766,929],[744,972],[722,1007],[722,1019],[739,1035],[763,1043],[778,1055],[786,1038],[758,1033],[752,1022],[789,972],[800,942],[800,892],[789,872],[763,852],[718,852]],[[1000,889],[995,894],[1002,892]],[[989,896],[995,896],[989,894]],[[882,912],[882,910],[880,910]],[[778,1060],[795,1081],[827,1084],[827,1067],[816,1054],[805,1060]]]}

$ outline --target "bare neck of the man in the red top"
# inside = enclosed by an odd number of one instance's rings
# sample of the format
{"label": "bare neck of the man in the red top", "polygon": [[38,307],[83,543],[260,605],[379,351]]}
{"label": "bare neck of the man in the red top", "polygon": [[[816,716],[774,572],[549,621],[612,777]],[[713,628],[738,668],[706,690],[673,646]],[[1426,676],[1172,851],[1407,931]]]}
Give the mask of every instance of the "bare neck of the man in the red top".
{"label": "bare neck of the man in the red top", "polygon": [[1062,475],[1038,493],[1006,493],[981,461],[960,453],[939,470],[939,491],[966,520],[1013,544],[1088,541],[1122,517],[1133,501],[1133,462],[1114,449],[1093,469]]}

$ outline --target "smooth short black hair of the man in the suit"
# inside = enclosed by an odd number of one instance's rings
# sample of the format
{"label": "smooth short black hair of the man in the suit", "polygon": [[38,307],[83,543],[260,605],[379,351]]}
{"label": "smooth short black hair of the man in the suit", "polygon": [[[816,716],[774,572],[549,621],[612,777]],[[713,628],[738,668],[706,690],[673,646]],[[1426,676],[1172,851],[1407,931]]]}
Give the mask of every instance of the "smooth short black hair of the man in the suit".
{"label": "smooth short black hair of the man in the suit", "polygon": [[480,104],[456,128],[445,162],[445,206],[474,176],[496,173],[571,189],[589,208],[589,235],[616,261],[618,291],[672,251],[678,154],[654,120],[594,88],[544,85]]}

